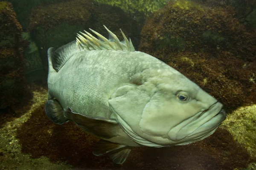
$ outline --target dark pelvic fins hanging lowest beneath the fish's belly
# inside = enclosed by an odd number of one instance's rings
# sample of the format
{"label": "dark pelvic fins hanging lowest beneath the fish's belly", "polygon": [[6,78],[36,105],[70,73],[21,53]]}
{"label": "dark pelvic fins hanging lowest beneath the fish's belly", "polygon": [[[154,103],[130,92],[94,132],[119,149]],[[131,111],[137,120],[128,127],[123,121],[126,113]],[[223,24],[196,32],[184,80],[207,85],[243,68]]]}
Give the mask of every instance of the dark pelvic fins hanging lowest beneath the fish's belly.
{"label": "dark pelvic fins hanging lowest beneath the fish's belly", "polygon": [[131,152],[131,147],[100,140],[94,147],[93,154],[96,156],[109,154],[110,159],[116,164],[122,164]]}

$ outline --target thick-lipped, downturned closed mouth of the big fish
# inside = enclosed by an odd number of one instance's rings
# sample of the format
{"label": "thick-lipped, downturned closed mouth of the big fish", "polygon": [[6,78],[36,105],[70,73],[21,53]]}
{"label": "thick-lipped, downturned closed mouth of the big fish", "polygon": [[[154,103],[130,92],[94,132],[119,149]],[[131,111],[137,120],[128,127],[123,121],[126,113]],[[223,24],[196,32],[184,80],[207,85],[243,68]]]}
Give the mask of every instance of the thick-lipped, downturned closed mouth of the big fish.
{"label": "thick-lipped, downturned closed mouth of the big fish", "polygon": [[222,107],[223,105],[220,102],[214,103],[209,109],[198,112],[189,119],[186,119],[183,124],[172,128],[168,136],[171,140],[180,141],[180,143],[184,144],[210,136],[226,118],[226,112]]}

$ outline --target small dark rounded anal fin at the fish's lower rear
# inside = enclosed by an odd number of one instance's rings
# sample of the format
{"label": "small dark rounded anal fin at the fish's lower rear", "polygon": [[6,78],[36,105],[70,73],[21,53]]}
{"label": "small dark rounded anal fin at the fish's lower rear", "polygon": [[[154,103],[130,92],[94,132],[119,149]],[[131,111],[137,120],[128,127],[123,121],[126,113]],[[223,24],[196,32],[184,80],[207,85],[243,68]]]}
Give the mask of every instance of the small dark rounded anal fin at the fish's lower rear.
{"label": "small dark rounded anal fin at the fish's lower rear", "polygon": [[50,99],[44,105],[45,112],[47,116],[54,122],[55,124],[62,125],[69,121],[64,114],[63,108],[57,99]]}

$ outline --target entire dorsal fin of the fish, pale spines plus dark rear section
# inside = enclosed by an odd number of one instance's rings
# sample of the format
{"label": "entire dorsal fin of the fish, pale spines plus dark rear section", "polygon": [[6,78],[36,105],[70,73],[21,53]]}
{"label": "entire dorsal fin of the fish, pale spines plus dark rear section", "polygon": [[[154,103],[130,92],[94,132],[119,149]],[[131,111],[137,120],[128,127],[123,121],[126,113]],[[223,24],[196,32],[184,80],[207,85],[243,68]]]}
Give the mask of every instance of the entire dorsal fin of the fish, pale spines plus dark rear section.
{"label": "entire dorsal fin of the fish, pale spines plus dark rear section", "polygon": [[49,58],[52,61],[52,67],[55,69],[55,71],[58,72],[67,62],[67,60],[70,59],[70,57],[81,50],[135,51],[131,39],[129,41],[121,29],[120,31],[124,38],[123,41],[119,41],[113,32],[111,32],[106,26],[104,27],[108,31],[110,39],[105,38],[98,32],[89,28],[90,31],[98,36],[98,38],[94,37],[87,31],[84,31],[85,34],[80,32],[80,34],[77,34],[76,41],[72,41],[61,46],[54,52],[53,55],[51,54]]}

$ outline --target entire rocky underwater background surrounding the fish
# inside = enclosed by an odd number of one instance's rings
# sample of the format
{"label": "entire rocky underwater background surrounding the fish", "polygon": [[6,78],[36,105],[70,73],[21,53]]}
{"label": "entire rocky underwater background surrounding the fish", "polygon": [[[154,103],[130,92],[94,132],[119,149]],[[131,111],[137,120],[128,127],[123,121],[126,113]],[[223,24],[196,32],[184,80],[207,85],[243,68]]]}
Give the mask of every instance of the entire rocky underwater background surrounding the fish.
{"label": "entire rocky underwater background surrounding the fish", "polygon": [[[134,148],[124,164],[99,140],[46,116],[47,49],[89,28],[180,71],[229,113],[207,139]],[[256,0],[0,1],[0,170],[256,169]]]}

